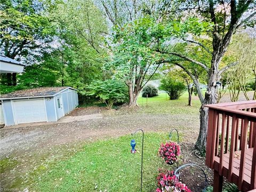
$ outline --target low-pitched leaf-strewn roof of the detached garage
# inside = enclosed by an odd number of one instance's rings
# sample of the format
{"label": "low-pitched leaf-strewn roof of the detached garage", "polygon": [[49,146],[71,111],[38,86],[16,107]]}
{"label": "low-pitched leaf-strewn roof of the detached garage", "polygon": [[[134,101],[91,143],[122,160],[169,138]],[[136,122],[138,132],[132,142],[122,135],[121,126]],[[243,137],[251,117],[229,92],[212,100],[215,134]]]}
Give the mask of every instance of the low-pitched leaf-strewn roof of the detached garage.
{"label": "low-pitched leaf-strewn roof of the detached garage", "polygon": [[67,89],[73,89],[69,86],[62,87],[39,87],[35,89],[19,90],[11,93],[3,94],[0,96],[1,100],[6,99],[21,99],[21,98],[42,98],[42,97],[53,97],[62,91]]}

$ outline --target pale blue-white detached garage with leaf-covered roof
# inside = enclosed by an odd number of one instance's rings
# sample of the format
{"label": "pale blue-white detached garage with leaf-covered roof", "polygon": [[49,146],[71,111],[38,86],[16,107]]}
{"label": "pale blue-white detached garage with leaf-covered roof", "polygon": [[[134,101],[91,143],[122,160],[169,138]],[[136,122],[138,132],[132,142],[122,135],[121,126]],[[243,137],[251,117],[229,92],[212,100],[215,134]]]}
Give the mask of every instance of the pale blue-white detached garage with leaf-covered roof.
{"label": "pale blue-white detached garage with leaf-covered roof", "polygon": [[54,122],[78,106],[72,87],[40,87],[1,95],[5,125]]}

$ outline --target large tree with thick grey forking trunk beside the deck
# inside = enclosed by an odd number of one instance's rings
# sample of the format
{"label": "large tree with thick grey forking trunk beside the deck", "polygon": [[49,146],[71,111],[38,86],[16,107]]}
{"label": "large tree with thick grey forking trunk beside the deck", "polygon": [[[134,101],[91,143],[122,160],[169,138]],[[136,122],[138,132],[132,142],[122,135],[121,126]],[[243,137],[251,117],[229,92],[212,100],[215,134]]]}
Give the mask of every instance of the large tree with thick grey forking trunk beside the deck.
{"label": "large tree with thick grey forking trunk beside the deck", "polygon": [[[189,3],[189,6],[187,6]],[[197,42],[194,39],[184,39],[185,41],[197,44],[201,46],[202,49],[209,53],[211,57],[211,62],[204,63],[187,57],[186,54],[170,51],[167,49],[159,49],[159,52],[165,53],[167,55],[175,55],[176,57],[182,58],[184,60],[190,61],[194,65],[202,67],[208,76],[207,79],[207,91],[205,97],[203,97],[201,91],[197,88],[202,106],[200,109],[200,132],[196,142],[196,147],[198,149],[204,149],[206,145],[206,134],[207,134],[207,120],[208,120],[208,109],[204,105],[216,103],[218,99],[217,86],[216,82],[220,80],[221,75],[228,68],[236,65],[237,62],[229,63],[227,66],[221,66],[222,58],[224,57],[228,45],[230,44],[231,38],[234,33],[246,25],[253,25],[255,20],[253,19],[256,15],[255,11],[255,1],[186,1],[185,4],[178,7],[179,11],[186,7],[185,11],[185,20],[186,17],[193,17],[195,15],[200,22],[210,22],[213,24],[213,27],[210,30],[206,30],[206,35],[209,37],[209,41],[212,42],[212,47],[205,46],[200,41]],[[166,7],[165,7],[166,8]],[[165,10],[168,10],[166,8]],[[183,9],[184,10],[184,9]],[[188,11],[192,10],[192,11]],[[170,9],[170,13],[173,9]],[[177,11],[177,10],[176,10]],[[190,19],[191,20],[191,19]],[[196,21],[196,20],[194,20]],[[194,26],[183,27],[182,30],[185,31],[185,34],[197,33],[197,30],[202,30],[199,22],[194,22]],[[189,29],[190,28],[190,29]],[[189,31],[190,30],[190,31]],[[182,32],[182,31],[181,31]],[[185,36],[186,37],[186,36]],[[188,75],[195,79],[193,74],[189,73],[187,68],[179,63],[176,63],[178,66],[183,68]],[[196,84],[196,82],[194,81]]]}

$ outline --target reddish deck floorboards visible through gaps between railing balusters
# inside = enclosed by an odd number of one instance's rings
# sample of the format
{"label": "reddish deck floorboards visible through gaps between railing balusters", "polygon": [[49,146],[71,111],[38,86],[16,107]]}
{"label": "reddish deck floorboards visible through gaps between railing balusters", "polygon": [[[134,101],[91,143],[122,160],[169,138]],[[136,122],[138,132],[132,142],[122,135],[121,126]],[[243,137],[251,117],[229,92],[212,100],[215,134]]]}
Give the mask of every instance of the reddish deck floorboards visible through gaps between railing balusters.
{"label": "reddish deck floorboards visible through gaps between railing balusters", "polygon": [[[244,167],[244,175],[243,175],[243,188],[245,191],[250,186],[251,183],[251,172],[252,172],[252,155],[253,155],[253,148],[246,149],[245,151],[245,167]],[[235,151],[234,158],[233,158],[233,179],[229,182],[234,182],[238,185],[238,177],[239,177],[239,168],[240,168],[240,160],[241,160],[241,151]],[[219,164],[220,158],[215,156],[214,157],[214,169],[219,171]],[[223,155],[223,176],[228,177],[226,173],[229,170],[229,153]]]}

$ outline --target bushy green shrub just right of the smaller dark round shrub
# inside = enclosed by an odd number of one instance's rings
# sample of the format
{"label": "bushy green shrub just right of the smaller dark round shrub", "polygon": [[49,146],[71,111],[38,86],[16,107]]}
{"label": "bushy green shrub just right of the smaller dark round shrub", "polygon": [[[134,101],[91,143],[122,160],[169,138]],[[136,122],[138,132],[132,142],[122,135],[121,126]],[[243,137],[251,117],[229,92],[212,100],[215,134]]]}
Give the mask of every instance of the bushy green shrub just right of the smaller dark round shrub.
{"label": "bushy green shrub just right of the smaller dark round shrub", "polygon": [[170,100],[179,99],[179,97],[185,92],[186,86],[170,77],[165,77],[161,80],[161,86],[159,89],[164,90],[170,96]]}

